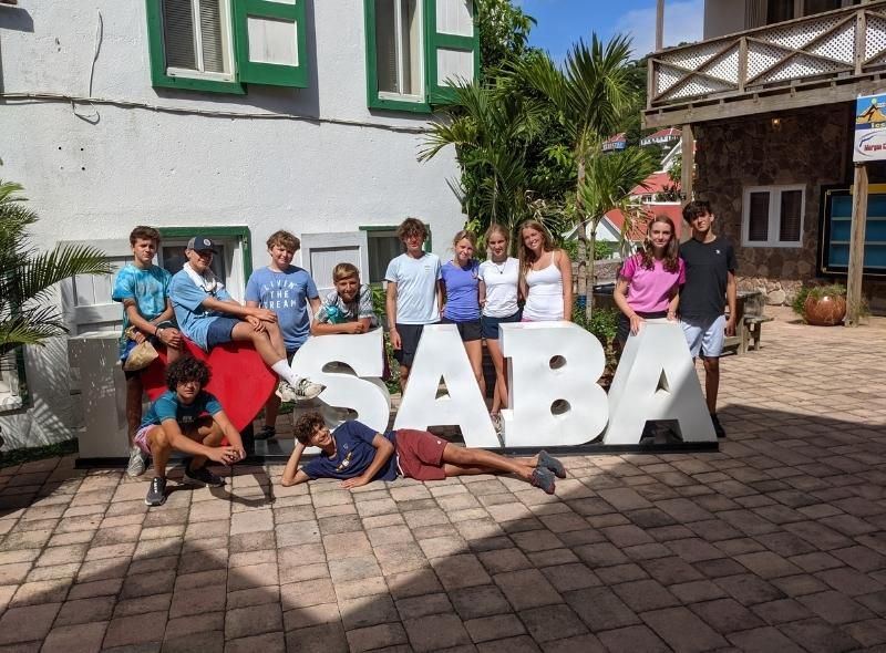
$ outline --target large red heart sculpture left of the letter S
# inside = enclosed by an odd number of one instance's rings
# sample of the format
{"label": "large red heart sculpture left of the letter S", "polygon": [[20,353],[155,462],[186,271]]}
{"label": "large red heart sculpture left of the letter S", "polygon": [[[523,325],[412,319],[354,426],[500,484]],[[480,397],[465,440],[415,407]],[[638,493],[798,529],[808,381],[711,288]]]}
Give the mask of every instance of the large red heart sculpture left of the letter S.
{"label": "large red heart sculpture left of the letter S", "polygon": [[[189,354],[203,361],[213,372],[206,390],[222,403],[234,428],[243,431],[265,406],[277,385],[277,375],[271,372],[248,342],[229,342],[213,348],[208,354],[183,338]],[[142,373],[148,398],[153,402],[166,392],[166,351],[157,348],[159,357]]]}

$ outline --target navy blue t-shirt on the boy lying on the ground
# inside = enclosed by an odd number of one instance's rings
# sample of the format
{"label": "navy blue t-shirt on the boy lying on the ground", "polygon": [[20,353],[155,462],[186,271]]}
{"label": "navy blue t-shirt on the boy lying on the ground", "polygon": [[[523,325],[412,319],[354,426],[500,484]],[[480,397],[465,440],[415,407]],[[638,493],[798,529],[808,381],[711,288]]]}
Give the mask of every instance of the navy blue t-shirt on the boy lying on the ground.
{"label": "navy blue t-shirt on the boy lying on the ground", "polygon": [[[336,438],[336,455],[328,458],[320,454],[301,469],[311,478],[354,478],[372,464],[375,447],[372,438],[375,431],[360,422],[346,422],[332,432]],[[394,444],[394,434],[384,434]],[[372,480],[393,480],[396,478],[396,455],[392,454]]]}

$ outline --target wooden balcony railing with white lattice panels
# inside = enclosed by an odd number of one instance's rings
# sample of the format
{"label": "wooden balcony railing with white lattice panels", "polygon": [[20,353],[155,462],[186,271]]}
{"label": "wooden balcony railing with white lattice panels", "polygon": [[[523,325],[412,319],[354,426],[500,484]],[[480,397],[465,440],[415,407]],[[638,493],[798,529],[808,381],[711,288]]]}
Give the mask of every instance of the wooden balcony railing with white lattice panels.
{"label": "wooden balcony railing with white lattice panels", "polygon": [[646,118],[672,124],[664,114],[677,117],[690,106],[847,85],[884,71],[886,0],[877,0],[656,52]]}

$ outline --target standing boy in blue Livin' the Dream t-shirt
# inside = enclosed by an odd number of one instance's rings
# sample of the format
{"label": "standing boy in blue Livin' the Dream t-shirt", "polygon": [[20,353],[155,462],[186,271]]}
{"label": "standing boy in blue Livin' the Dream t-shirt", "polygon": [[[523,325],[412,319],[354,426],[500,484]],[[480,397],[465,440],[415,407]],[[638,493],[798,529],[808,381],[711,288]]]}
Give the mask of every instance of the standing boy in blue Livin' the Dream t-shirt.
{"label": "standing boy in blue Livin' the Dream t-shirt", "polygon": [[[284,341],[287,361],[291,362],[299,348],[310,334],[311,318],[317,313],[320,299],[317,286],[307,270],[292,265],[292,258],[301,248],[301,241],[289,231],[275,231],[268,238],[270,265],[259,268],[246,282],[246,305],[262,308],[277,313],[277,324]],[[277,414],[280,411],[278,393],[271,393],[265,403],[265,426],[256,433],[256,439],[277,436]]]}

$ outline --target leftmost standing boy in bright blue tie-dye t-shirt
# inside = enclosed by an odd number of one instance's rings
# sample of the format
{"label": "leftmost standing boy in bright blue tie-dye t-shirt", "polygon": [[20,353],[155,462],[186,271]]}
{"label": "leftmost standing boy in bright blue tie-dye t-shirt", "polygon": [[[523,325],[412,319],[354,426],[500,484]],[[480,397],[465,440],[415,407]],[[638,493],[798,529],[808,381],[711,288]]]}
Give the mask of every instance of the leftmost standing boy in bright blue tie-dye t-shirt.
{"label": "leftmost standing boy in bright blue tie-dye t-shirt", "polygon": [[[182,334],[172,322],[175,317],[169,300],[172,274],[154,265],[159,247],[159,231],[152,227],[136,227],[130,234],[133,260],[126,263],[111,291],[111,299],[123,303],[123,334],[120,338],[120,360],[125,364],[136,344],[150,340],[155,346],[165,346],[167,362],[172,363],[182,346]],[[135,477],[145,471],[145,456],[133,438],[142,422],[142,371],[123,371],[126,376],[126,426],[130,436],[130,463],[126,474]]]}

